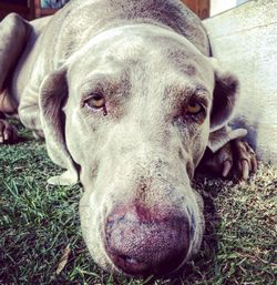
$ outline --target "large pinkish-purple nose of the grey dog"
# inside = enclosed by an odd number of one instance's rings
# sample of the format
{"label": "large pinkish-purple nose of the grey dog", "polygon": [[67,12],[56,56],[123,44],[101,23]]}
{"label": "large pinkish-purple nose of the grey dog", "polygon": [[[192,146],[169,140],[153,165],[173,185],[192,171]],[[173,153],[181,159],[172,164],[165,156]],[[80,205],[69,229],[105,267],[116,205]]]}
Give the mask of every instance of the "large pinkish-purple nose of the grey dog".
{"label": "large pinkish-purple nose of the grey dog", "polygon": [[114,265],[126,274],[166,275],[185,259],[189,247],[187,218],[132,206],[107,216],[105,248]]}

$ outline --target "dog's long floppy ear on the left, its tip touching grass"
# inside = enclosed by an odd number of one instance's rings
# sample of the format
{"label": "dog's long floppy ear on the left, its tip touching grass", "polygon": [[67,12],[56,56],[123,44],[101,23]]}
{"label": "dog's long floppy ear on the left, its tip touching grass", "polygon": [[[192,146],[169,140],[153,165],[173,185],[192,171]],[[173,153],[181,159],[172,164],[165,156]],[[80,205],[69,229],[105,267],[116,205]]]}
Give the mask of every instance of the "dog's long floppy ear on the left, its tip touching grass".
{"label": "dog's long floppy ear on the left, its tip touching grass", "polygon": [[49,74],[42,82],[39,106],[50,159],[66,171],[48,180],[50,184],[70,185],[79,181],[76,165],[65,143],[63,105],[68,100],[66,68]]}

